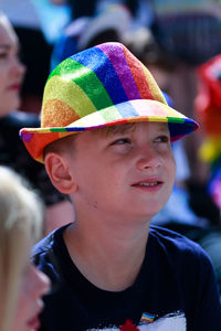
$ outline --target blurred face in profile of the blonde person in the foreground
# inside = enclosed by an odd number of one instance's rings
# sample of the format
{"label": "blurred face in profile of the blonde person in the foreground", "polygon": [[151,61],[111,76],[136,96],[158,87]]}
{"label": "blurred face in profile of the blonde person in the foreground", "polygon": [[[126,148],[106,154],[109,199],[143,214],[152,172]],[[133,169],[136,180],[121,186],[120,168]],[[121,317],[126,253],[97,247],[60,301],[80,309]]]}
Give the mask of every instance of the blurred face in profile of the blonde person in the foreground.
{"label": "blurred face in profile of the blonde person in the foreground", "polygon": [[49,290],[48,276],[28,260],[21,275],[21,289],[11,330],[34,331],[39,329],[38,316],[43,309],[42,296]]}

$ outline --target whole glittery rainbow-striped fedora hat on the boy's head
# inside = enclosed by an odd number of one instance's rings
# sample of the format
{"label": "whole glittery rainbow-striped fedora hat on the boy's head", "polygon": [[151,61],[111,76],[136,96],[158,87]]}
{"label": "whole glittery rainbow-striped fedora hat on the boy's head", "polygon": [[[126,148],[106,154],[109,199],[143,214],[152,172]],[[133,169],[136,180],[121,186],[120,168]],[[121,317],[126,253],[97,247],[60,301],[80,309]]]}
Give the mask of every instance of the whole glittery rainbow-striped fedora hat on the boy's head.
{"label": "whole glittery rainbow-striped fedora hat on the boy's head", "polygon": [[74,54],[50,74],[41,128],[23,128],[29,153],[43,162],[44,148],[85,130],[136,121],[168,122],[171,141],[198,124],[167,105],[145,65],[123,44],[104,43]]}

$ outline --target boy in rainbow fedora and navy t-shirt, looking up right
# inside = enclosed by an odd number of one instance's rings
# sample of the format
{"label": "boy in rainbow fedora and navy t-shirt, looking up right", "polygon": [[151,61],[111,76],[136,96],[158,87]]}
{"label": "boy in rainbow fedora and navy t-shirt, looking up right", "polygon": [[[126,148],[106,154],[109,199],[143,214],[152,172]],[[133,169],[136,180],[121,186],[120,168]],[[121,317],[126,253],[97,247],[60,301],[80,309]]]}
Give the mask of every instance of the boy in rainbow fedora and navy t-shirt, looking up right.
{"label": "boy in rainbow fedora and navy t-shirt, looking up right", "polygon": [[221,329],[208,257],[187,238],[149,227],[175,180],[170,140],[197,127],[166,105],[119,43],[75,54],[51,73],[42,128],[21,137],[74,202],[76,221],[33,249],[54,286],[41,330]]}

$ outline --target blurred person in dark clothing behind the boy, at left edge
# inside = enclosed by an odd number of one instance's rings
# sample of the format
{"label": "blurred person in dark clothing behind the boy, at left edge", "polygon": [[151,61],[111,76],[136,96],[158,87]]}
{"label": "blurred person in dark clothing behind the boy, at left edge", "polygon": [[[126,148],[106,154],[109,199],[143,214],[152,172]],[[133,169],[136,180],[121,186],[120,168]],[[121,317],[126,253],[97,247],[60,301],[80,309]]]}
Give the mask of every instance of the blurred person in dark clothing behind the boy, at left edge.
{"label": "blurred person in dark clothing behind the boy, at left edge", "polygon": [[13,168],[38,190],[46,205],[46,234],[61,224],[56,223],[57,220],[73,221],[73,209],[65,196],[53,188],[44,167],[33,162],[18,139],[21,127],[38,127],[40,121],[34,114],[15,110],[21,102],[20,89],[25,73],[19,60],[19,50],[18,36],[8,18],[0,12],[0,164]]}

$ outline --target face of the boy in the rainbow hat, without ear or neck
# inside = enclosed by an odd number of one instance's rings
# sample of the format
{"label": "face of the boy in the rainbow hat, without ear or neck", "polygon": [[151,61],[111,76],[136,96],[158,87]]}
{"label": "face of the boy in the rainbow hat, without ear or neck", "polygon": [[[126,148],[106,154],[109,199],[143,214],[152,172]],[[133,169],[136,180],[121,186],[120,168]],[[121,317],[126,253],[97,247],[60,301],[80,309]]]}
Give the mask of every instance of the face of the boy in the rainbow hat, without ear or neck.
{"label": "face of the boy in the rainbow hat, without ear or neck", "polygon": [[167,203],[175,181],[168,126],[118,128],[110,135],[87,131],[74,138],[67,162],[77,184],[75,203],[119,220],[151,218]]}

